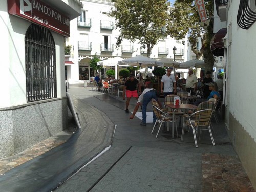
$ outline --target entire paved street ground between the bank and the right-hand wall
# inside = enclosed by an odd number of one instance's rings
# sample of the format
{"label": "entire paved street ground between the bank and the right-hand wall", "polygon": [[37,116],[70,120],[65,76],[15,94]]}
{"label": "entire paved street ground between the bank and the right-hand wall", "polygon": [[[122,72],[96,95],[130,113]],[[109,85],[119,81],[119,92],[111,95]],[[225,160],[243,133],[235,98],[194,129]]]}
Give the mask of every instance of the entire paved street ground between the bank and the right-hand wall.
{"label": "entire paved street ground between the bank and the right-hand wall", "polygon": [[[124,111],[122,97],[91,91],[90,87],[83,88],[81,85],[70,85],[68,91],[82,129],[71,138],[66,134],[66,139],[55,137],[56,140],[48,146],[38,144],[35,148],[39,156],[31,156],[32,160],[24,160],[22,165],[13,165],[9,172],[0,176],[0,191],[50,191],[56,187],[54,192],[254,191],[230,144],[223,122],[216,124],[212,121],[216,146],[212,146],[209,133],[205,132],[202,140],[198,141],[199,147],[195,148],[191,132],[184,136],[184,142],[162,131],[155,138],[156,131],[151,134],[153,123],[142,127],[140,119],[129,120],[130,114]],[[136,100],[131,99],[130,111],[133,111],[135,104]],[[147,109],[152,110],[150,104]],[[114,125],[117,126],[112,138],[105,129]],[[104,144],[96,147],[99,139]],[[65,140],[67,142],[63,143]],[[60,143],[63,144],[55,147]],[[84,166],[108,143],[112,143],[108,151]],[[48,151],[47,147],[53,148]],[[24,153],[23,158],[29,158],[28,154]],[[59,156],[63,158],[59,159]],[[48,157],[46,162],[43,161],[45,157]],[[9,159],[12,160],[10,162],[14,160]],[[62,170],[56,169],[58,164],[63,165]],[[52,171],[46,168],[49,165]],[[6,176],[9,180],[5,180]]]}

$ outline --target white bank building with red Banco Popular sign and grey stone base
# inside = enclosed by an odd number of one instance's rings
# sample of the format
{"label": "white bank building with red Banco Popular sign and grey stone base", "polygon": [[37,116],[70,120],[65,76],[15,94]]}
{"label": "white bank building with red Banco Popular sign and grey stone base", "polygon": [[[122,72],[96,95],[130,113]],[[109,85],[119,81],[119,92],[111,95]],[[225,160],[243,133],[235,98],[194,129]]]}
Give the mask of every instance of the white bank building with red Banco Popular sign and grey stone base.
{"label": "white bank building with red Banco Popular sign and grey stone base", "polygon": [[19,153],[66,127],[64,37],[79,1],[0,2],[0,158]]}

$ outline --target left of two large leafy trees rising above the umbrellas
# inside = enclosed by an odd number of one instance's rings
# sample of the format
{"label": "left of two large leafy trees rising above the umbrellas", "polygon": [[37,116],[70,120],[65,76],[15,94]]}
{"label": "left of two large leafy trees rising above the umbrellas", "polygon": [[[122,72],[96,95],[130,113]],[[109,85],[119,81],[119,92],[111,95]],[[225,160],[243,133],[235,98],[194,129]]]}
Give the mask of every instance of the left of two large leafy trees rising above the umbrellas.
{"label": "left of two large leafy trees rising above the umbrellas", "polygon": [[120,29],[116,46],[123,39],[139,42],[147,48],[147,57],[159,39],[166,36],[167,25],[172,21],[168,13],[170,3],[166,0],[111,0],[113,7],[106,15],[115,17],[116,28]]}

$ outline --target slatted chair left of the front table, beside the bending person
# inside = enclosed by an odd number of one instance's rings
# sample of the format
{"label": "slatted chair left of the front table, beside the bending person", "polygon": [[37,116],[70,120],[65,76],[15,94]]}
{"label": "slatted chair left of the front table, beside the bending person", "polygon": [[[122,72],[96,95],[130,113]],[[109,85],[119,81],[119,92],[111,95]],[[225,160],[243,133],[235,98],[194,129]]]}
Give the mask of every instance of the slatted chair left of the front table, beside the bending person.
{"label": "slatted chair left of the front table, beside the bending person", "polygon": [[[163,122],[168,123],[168,122],[173,122],[173,121],[172,121],[172,116],[170,116],[169,113],[164,112],[163,110],[160,109],[160,106],[159,106],[158,102],[155,99],[151,99],[151,102],[152,102],[153,112],[155,113],[155,115],[157,117],[157,120],[154,124],[154,127],[152,129],[151,134],[153,133],[157,122],[160,123],[159,129],[158,129],[158,132],[157,132],[157,135],[156,135],[156,138],[157,138],[158,133],[161,129],[161,126],[162,126]],[[178,137],[177,124],[176,124],[176,133],[177,133],[177,137]]]}

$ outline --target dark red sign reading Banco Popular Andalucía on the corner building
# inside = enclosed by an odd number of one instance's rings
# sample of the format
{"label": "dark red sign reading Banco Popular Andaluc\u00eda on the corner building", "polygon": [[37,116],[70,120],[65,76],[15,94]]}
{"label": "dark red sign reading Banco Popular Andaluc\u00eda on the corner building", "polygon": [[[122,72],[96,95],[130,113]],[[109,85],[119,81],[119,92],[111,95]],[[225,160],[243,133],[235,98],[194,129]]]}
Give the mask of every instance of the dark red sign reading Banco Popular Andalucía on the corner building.
{"label": "dark red sign reading Banco Popular Andaluc\u00eda on the corner building", "polygon": [[66,37],[70,36],[69,17],[40,0],[8,0],[8,12]]}

